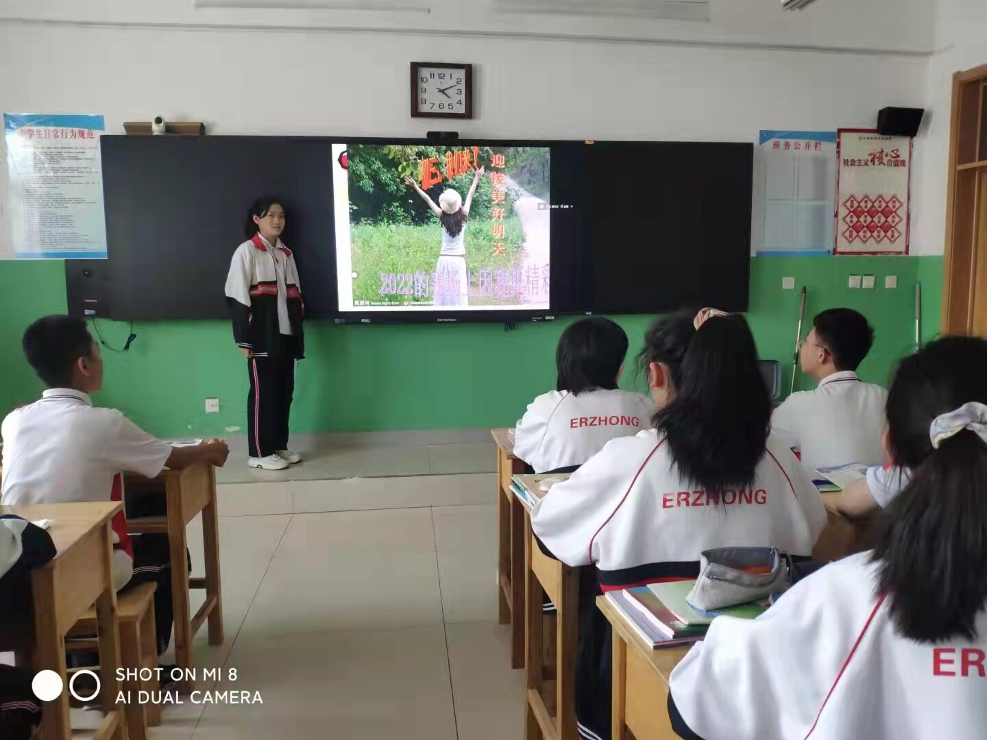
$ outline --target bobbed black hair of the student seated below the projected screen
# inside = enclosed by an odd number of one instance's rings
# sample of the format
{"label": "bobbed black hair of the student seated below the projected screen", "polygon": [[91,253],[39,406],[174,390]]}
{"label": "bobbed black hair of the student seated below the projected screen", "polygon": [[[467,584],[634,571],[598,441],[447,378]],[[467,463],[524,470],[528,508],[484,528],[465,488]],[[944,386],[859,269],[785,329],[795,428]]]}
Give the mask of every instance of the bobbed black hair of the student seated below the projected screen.
{"label": "bobbed black hair of the student seated below the projected screen", "polygon": [[556,390],[577,396],[617,388],[627,347],[627,333],[609,319],[594,316],[570,325],[559,337],[556,350]]}

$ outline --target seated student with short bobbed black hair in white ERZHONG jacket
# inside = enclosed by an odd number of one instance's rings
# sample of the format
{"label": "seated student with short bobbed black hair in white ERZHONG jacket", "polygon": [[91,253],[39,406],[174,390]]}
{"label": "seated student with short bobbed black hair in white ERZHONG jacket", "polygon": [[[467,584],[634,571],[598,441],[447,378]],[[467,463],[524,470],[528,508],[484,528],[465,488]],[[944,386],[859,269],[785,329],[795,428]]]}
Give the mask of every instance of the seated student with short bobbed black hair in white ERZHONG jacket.
{"label": "seated student with short bobbed black hair in white ERZHONG jacket", "polygon": [[531,402],[514,430],[514,454],[535,473],[582,465],[614,437],[650,426],[654,405],[617,388],[627,347],[624,330],[602,317],[562,333],[556,390]]}

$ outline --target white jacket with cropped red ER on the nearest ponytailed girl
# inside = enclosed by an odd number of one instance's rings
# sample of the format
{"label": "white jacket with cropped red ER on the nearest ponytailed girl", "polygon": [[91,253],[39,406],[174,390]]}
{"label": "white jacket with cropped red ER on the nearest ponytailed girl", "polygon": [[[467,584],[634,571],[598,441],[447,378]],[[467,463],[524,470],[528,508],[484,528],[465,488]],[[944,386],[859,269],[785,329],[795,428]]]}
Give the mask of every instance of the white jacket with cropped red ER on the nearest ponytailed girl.
{"label": "white jacket with cropped red ER on the nearest ponytailed girl", "polygon": [[978,637],[896,633],[870,553],[813,573],[757,620],[719,617],[671,675],[705,740],[982,740],[987,613]]}

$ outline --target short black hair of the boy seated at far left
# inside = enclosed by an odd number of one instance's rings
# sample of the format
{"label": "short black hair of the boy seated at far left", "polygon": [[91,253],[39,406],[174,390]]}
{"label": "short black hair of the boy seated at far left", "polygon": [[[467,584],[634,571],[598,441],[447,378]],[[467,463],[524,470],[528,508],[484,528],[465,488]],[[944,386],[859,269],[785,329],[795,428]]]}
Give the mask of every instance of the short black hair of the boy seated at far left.
{"label": "short black hair of the boy seated at far left", "polygon": [[28,363],[48,388],[65,388],[72,383],[75,363],[92,354],[93,337],[82,319],[45,316],[28,327],[22,346]]}

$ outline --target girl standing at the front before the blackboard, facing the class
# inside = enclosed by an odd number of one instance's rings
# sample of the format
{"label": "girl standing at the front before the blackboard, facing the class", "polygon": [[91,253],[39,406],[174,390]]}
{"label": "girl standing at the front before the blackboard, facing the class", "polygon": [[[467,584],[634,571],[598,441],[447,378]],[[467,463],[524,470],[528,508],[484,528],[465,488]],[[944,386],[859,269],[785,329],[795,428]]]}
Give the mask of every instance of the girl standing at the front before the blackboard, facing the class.
{"label": "girl standing at the front before the blackboard, facing the class", "polygon": [[305,304],[294,255],[281,242],[281,202],[261,197],[247,211],[245,236],[230,262],[226,302],[233,338],[247,358],[248,465],[284,470],[301,461],[288,449],[295,361],[305,356]]}

